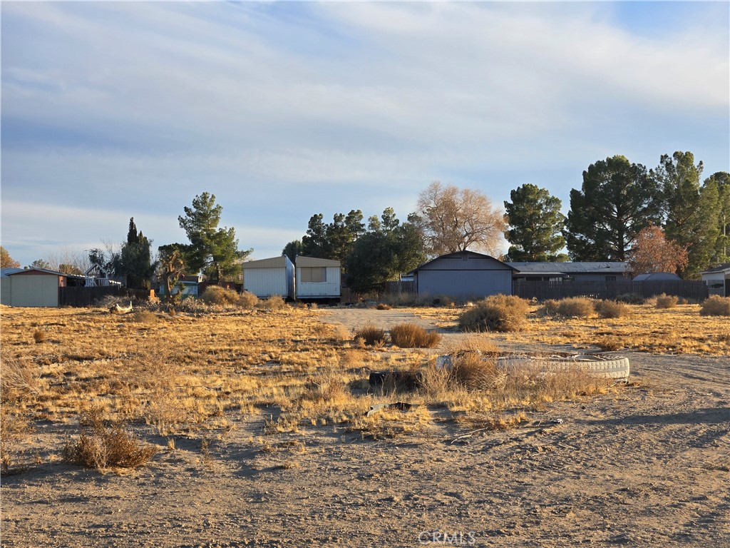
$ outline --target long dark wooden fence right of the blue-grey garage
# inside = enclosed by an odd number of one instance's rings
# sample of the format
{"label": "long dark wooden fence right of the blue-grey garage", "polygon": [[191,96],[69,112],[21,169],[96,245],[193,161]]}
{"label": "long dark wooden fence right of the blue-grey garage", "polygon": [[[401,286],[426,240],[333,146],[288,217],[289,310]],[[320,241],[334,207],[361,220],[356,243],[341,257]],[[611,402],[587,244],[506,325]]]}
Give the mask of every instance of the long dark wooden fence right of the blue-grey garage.
{"label": "long dark wooden fence right of the blue-grey garage", "polygon": [[615,299],[619,295],[637,294],[652,297],[658,294],[676,295],[685,299],[707,299],[704,281],[515,281],[512,294],[523,299],[564,299],[565,297],[593,297]]}

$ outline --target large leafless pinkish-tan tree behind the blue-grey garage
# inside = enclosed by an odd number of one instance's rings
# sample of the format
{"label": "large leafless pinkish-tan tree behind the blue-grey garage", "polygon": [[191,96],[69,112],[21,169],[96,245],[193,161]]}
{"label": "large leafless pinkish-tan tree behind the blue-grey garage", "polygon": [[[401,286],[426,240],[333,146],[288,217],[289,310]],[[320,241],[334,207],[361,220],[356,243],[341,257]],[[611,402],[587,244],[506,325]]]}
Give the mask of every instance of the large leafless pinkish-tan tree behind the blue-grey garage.
{"label": "large leafless pinkish-tan tree behind the blue-grey garage", "polygon": [[485,251],[498,255],[504,212],[482,192],[434,181],[418,196],[420,225],[432,254]]}

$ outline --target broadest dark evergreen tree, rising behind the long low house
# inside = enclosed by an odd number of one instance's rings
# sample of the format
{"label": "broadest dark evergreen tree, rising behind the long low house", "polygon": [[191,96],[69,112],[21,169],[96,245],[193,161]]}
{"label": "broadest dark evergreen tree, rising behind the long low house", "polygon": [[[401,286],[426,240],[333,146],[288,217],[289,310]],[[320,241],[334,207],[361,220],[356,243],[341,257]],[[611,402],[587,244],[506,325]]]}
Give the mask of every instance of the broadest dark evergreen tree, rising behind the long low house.
{"label": "broadest dark evergreen tree, rising behind the long low house", "polygon": [[596,161],[570,191],[567,248],[575,261],[625,261],[639,231],[661,221],[661,192],[641,164]]}

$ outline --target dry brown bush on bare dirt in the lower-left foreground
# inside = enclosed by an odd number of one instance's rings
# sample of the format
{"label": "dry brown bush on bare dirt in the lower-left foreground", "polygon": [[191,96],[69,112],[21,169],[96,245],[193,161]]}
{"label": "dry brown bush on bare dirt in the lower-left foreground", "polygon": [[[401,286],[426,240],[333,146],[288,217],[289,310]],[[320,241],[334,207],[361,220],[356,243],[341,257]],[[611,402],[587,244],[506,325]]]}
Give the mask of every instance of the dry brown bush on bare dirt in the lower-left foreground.
{"label": "dry brown bush on bare dirt in the lower-left foreground", "polygon": [[121,426],[105,427],[93,420],[77,441],[66,441],[63,458],[66,463],[86,468],[138,468],[147,463],[158,448],[139,441]]}

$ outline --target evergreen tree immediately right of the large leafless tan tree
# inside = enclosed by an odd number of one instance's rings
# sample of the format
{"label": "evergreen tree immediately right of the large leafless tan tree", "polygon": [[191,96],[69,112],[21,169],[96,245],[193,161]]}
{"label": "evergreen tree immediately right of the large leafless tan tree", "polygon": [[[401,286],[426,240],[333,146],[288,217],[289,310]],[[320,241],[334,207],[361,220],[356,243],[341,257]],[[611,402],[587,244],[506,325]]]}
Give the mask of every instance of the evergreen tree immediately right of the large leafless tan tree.
{"label": "evergreen tree immediately right of the large leafless tan tree", "polygon": [[558,261],[565,246],[562,231],[565,216],[560,199],[546,189],[525,184],[510,192],[512,202],[504,202],[509,229],[504,233],[512,244],[507,252],[510,261]]}

